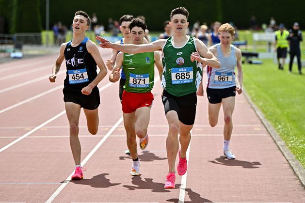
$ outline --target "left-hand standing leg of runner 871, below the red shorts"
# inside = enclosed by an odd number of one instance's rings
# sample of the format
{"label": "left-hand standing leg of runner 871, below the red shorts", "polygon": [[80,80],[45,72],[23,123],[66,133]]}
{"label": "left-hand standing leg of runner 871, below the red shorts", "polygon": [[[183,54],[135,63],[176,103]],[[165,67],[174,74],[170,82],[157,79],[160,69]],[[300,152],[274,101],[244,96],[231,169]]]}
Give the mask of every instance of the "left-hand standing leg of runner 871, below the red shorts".
{"label": "left-hand standing leg of runner 871, below the red shorts", "polygon": [[127,135],[126,141],[127,141],[128,149],[130,151],[130,155],[132,159],[137,159],[138,152],[137,152],[135,125],[134,125],[136,121],[135,112],[132,113],[123,112],[123,118],[124,118],[124,126]]}

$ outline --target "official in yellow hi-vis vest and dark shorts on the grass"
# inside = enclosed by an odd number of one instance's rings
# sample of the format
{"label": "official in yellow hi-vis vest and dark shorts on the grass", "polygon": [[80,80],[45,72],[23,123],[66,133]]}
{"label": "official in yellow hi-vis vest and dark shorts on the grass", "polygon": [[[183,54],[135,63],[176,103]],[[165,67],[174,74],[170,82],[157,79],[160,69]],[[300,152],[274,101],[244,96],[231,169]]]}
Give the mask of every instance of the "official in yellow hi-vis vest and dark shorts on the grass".
{"label": "official in yellow hi-vis vest and dark shorts on the grass", "polygon": [[[285,30],[285,26],[282,23],[278,28],[279,30],[275,31],[274,51],[276,49],[278,69],[283,70],[285,59],[287,57],[287,48],[289,47],[287,40],[289,31]],[[282,59],[282,62],[280,62],[280,59]]]}

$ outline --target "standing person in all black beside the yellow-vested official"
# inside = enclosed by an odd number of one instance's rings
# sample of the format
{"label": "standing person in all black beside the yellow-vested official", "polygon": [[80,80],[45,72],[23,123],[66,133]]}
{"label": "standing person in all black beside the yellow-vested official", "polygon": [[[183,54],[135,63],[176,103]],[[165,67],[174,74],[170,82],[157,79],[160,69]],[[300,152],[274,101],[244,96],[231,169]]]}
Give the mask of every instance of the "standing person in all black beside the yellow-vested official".
{"label": "standing person in all black beside the yellow-vested official", "polygon": [[302,31],[300,31],[299,23],[295,22],[292,29],[289,30],[288,41],[290,46],[289,73],[291,73],[292,70],[294,56],[297,56],[299,74],[302,75],[300,42],[303,41],[303,36]]}

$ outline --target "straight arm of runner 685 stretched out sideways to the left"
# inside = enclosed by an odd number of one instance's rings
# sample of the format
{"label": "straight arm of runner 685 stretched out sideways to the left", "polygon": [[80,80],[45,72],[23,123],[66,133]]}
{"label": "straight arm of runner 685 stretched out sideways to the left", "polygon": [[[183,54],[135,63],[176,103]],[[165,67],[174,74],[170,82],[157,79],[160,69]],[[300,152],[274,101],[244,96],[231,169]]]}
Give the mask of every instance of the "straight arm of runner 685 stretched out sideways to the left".
{"label": "straight arm of runner 685 stretched out sideways to the left", "polygon": [[99,46],[102,48],[113,48],[128,54],[137,54],[137,53],[153,52],[153,51],[161,50],[166,42],[165,39],[159,39],[149,44],[121,45],[121,44],[111,43],[108,40],[98,35],[96,36],[96,39],[101,42]]}

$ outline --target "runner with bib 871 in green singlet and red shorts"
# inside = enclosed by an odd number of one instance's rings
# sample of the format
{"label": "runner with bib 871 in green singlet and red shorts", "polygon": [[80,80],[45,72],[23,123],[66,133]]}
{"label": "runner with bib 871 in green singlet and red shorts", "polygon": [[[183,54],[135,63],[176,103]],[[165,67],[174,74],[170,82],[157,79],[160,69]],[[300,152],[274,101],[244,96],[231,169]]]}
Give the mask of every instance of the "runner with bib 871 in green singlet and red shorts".
{"label": "runner with bib 871 in green singlet and red shorts", "polygon": [[[140,18],[135,18],[130,22],[129,29],[132,44],[143,44],[145,22]],[[112,74],[109,75],[111,82],[118,81],[120,69],[123,66],[126,82],[122,95],[122,110],[127,146],[132,157],[131,175],[140,175],[136,136],[140,138],[140,149],[144,150],[148,144],[147,127],[150,108],[154,100],[154,96],[150,92],[154,86],[154,65],[157,66],[161,76],[163,66],[158,51],[139,54],[119,52]]]}

